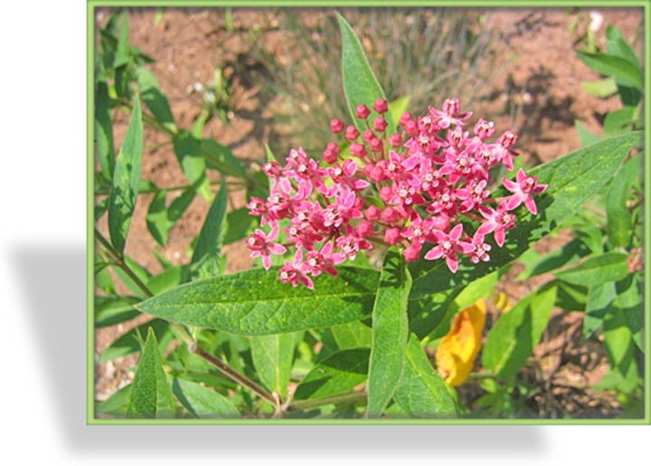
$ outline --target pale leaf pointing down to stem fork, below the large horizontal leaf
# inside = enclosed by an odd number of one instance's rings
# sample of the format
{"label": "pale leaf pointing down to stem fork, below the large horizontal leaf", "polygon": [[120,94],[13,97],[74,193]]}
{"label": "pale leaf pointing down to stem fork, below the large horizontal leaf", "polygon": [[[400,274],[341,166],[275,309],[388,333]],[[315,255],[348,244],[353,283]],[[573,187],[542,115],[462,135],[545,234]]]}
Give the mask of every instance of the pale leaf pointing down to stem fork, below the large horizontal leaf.
{"label": "pale leaf pointing down to stem fork, below the large horizontal leaf", "polygon": [[289,377],[294,362],[294,348],[302,332],[250,337],[250,350],[259,379],[282,398],[288,395]]}

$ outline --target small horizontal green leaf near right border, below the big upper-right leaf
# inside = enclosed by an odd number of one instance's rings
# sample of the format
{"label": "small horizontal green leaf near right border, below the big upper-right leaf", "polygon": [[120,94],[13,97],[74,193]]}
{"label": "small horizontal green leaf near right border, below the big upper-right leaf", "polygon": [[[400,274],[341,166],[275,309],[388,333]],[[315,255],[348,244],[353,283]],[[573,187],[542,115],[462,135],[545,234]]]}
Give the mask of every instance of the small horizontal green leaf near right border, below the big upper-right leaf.
{"label": "small horizontal green leaf near right border, below the big upper-right leaf", "polygon": [[557,278],[575,285],[594,286],[607,281],[618,281],[628,274],[627,255],[623,252],[605,252],[590,257],[576,267],[557,271]]}

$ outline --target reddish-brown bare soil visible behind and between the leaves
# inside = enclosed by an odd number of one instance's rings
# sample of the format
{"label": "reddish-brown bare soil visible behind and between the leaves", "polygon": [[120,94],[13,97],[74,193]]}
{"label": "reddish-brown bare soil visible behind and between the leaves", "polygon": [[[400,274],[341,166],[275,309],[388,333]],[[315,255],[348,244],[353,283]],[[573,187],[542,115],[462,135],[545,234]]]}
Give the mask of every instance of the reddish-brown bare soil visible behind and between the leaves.
{"label": "reddish-brown bare soil visible behind and between the leaves", "polygon": [[[193,91],[195,83],[212,81],[216,66],[231,75],[233,109],[231,119],[223,123],[212,119],[204,135],[215,138],[231,148],[237,156],[259,160],[264,144],[269,142],[269,127],[273,126],[273,111],[278,101],[269,100],[261,92],[262,71],[250,55],[252,47],[267,47],[273,52],[284,39],[279,29],[277,10],[233,9],[231,32],[227,31],[223,9],[168,9],[162,16],[154,8],[129,10],[129,37],[132,45],[156,60],[149,69],[156,75],[170,102],[175,120],[181,128],[192,128],[193,119],[201,109],[202,98]],[[599,121],[610,110],[618,108],[615,99],[601,100],[581,88],[581,81],[599,79],[577,58],[572,47],[579,34],[571,34],[569,26],[575,12],[565,9],[491,9],[490,27],[499,33],[493,47],[497,53],[495,70],[486,75],[484,99],[474,104],[476,115],[490,115],[496,128],[514,128],[520,134],[517,149],[532,164],[560,157],[580,147],[574,121],[599,132]],[[607,24],[617,26],[629,41],[635,41],[641,52],[643,11],[641,9],[598,9],[603,18],[596,33],[603,43]],[[108,12],[98,10],[98,24],[105,24]],[[584,11],[587,13],[587,11]],[[315,13],[316,14],[316,13]],[[344,14],[345,15],[345,14]],[[597,15],[599,17],[599,15]],[[250,31],[259,29],[260,38],[251,42]],[[433,104],[448,96],[433,96]],[[127,119],[118,114],[115,143],[119,147],[127,128]],[[142,176],[160,187],[186,185],[171,145],[163,144],[165,136],[146,128],[146,152]],[[175,229],[168,246],[156,245],[146,230],[146,209],[153,195],[142,195],[132,221],[127,242],[127,254],[149,271],[160,271],[152,250],[158,249],[175,263],[189,262],[186,250],[199,233],[209,204],[197,196]],[[231,206],[245,202],[243,193],[231,195]],[[105,220],[105,219],[104,219]],[[106,231],[105,222],[99,223]],[[542,243],[541,251],[558,247],[563,239]],[[249,253],[243,243],[227,247],[228,271],[250,267]],[[516,272],[510,274],[514,277]],[[539,281],[514,283],[506,281],[505,292],[517,300]],[[492,309],[495,312],[495,309]],[[590,388],[599,382],[607,368],[598,344],[580,342],[580,313],[556,311],[552,324],[545,332],[534,359],[537,369],[531,376],[540,386],[536,400],[543,417],[563,413],[580,417],[610,417],[620,409],[609,393],[596,394]],[[128,326],[107,328],[96,332],[96,352],[107,347]],[[119,387],[126,385],[131,373],[132,358],[98,366],[97,399],[106,399]],[[465,398],[481,393],[469,386]]]}

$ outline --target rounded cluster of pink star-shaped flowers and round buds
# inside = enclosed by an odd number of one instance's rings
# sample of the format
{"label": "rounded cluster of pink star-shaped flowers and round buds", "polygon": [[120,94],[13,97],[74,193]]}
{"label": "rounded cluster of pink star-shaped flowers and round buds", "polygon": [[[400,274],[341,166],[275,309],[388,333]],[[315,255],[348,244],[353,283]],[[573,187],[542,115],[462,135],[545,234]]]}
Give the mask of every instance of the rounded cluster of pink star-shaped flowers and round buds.
{"label": "rounded cluster of pink star-shaped flowers and round buds", "polygon": [[[379,115],[373,120],[365,105],[356,109],[357,118],[365,122],[363,133],[339,119],[331,121],[332,131],[343,135],[353,157],[343,157],[345,146],[331,142],[323,165],[298,148],[291,150],[285,166],[263,166],[273,179],[270,195],[266,201],[252,197],[247,207],[271,232],[256,230],[247,245],[268,270],[270,254],[296,248],[294,261],[280,269],[280,281],[312,289],[310,276],[336,275],[335,265],[354,260],[372,243],[401,247],[409,262],[433,244],[424,258],[445,259],[456,272],[459,256],[473,263],[490,260],[486,238],[492,234],[498,246],[504,245],[518,206],[537,213],[533,195],[547,185],[539,185],[522,169],[515,181],[502,180],[511,195],[492,198],[488,189],[492,167],[502,164],[513,170],[514,131],[489,142],[494,123],[479,119],[471,134],[464,127],[472,113],[461,113],[458,100],[448,99],[442,110],[430,107],[417,119],[403,113],[401,131],[387,135],[387,101],[376,100],[373,109]],[[284,244],[274,243],[281,222]]]}

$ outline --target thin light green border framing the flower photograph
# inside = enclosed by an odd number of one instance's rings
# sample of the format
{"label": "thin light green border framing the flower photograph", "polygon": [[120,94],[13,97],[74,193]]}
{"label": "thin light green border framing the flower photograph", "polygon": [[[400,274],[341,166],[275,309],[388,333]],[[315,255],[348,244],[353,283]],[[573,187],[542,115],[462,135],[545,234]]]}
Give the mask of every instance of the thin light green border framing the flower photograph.
{"label": "thin light green border framing the flower photograph", "polygon": [[[93,235],[93,221],[94,221],[94,185],[93,185],[93,166],[94,166],[94,79],[93,79],[93,63],[94,63],[94,40],[95,40],[95,8],[97,7],[119,7],[119,6],[184,6],[184,7],[200,7],[200,6],[396,6],[395,2],[388,0],[355,0],[354,2],[334,1],[334,0],[314,0],[306,5],[306,0],[278,0],[275,2],[265,2],[261,0],[238,0],[237,2],[212,0],[212,1],[195,1],[195,0],[88,0],[87,7],[87,34],[86,34],[86,181],[87,181],[87,194],[86,194],[86,319],[87,319],[87,394],[86,394],[86,423],[87,425],[649,425],[651,424],[651,303],[647,297],[651,293],[651,284],[648,280],[644,283],[645,292],[645,407],[644,418],[641,419],[456,419],[456,420],[423,420],[423,419],[376,419],[376,420],[341,420],[341,419],[246,419],[246,420],[202,420],[202,419],[178,419],[178,420],[130,420],[130,419],[97,419],[95,418],[95,386],[94,386],[94,235]],[[236,4],[236,5],[233,5]],[[400,4],[403,6],[477,6],[477,7],[526,7],[526,8],[548,8],[548,7],[567,7],[568,2],[563,0],[551,0],[541,2],[526,2],[522,0],[459,0],[457,2],[451,1],[423,1],[411,0]],[[648,90],[651,89],[651,41],[649,41],[649,27],[651,27],[651,5],[648,0],[637,0],[627,2],[615,1],[585,1],[574,0],[571,6],[580,7],[617,7],[617,8],[642,8],[644,10],[644,24],[645,24],[645,89],[648,95]],[[649,121],[651,121],[651,108],[645,105],[645,128],[647,128]],[[651,147],[651,135],[649,131],[645,131],[645,197],[651,198],[651,184],[647,181],[649,179],[649,172],[651,171],[651,164],[648,163],[648,151]],[[648,228],[647,220],[651,218],[651,203],[645,203],[645,274],[649,277],[651,273],[651,229]]]}

